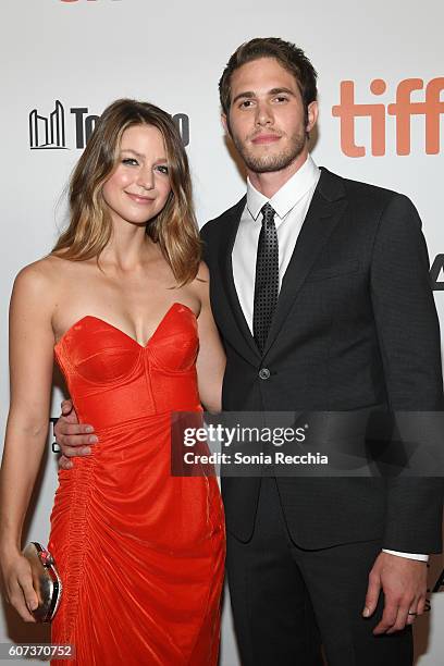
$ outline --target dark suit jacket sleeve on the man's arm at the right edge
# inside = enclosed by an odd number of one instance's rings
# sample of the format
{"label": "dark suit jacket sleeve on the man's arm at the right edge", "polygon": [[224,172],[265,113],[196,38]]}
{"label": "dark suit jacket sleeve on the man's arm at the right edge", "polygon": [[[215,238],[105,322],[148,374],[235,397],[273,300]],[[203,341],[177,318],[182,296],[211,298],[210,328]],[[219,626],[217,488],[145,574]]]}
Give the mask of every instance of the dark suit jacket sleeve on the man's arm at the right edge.
{"label": "dark suit jacket sleeve on the man's arm at the right edge", "polygon": [[[429,257],[418,212],[402,195],[394,195],[381,215],[372,252],[371,297],[391,410],[436,412],[440,427],[441,338]],[[444,437],[441,441],[444,446]],[[386,483],[383,547],[441,552],[444,478],[402,477]]]}

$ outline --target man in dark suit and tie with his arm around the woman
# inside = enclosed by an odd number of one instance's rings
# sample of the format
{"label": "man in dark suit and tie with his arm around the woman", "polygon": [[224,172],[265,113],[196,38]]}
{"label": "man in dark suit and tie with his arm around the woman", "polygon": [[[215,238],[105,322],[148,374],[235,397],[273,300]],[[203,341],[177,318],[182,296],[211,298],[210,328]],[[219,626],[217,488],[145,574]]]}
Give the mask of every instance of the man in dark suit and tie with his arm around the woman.
{"label": "man in dark suit and tie with his arm around the woman", "polygon": [[[227,357],[225,410],[442,409],[428,255],[405,196],[319,170],[316,72],[254,39],[220,82],[247,195],[201,231]],[[70,455],[77,427],[59,427]],[[427,478],[224,478],[244,666],[407,666],[442,484]]]}

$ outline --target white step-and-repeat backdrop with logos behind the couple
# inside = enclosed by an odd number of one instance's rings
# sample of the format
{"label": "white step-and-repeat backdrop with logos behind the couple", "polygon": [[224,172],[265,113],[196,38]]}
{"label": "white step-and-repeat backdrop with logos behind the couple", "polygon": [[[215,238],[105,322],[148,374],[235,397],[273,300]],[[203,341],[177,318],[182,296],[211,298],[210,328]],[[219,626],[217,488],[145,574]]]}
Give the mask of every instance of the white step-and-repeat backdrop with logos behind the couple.
{"label": "white step-and-repeat backdrop with logos behind the couple", "polygon": [[[8,415],[8,306],[17,271],[49,251],[65,222],[69,175],[106,106],[152,101],[176,120],[193,169],[199,224],[245,190],[220,124],[218,81],[255,36],[303,47],[319,72],[311,152],[344,176],[407,194],[428,240],[444,330],[444,53],[440,0],[14,0],[2,5],[0,410]],[[54,387],[52,417],[62,394]],[[52,430],[52,429],[51,429]],[[57,486],[50,448],[27,536],[45,541]],[[432,558],[417,664],[444,659],[444,574]],[[49,640],[0,604],[0,643]],[[20,662],[18,662],[20,663]],[[23,662],[25,663],[25,662]],[[26,661],[29,663],[29,661]],[[37,663],[37,662],[36,662]],[[238,666],[225,593],[222,666]]]}

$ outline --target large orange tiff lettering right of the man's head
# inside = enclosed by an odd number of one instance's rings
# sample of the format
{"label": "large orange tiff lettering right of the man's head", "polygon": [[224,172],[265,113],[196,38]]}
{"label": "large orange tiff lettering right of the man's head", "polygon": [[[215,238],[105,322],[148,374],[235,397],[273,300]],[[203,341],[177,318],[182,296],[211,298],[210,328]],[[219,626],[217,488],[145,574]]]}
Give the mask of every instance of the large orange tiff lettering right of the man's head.
{"label": "large orange tiff lettering right of the man's head", "polygon": [[[348,157],[363,157],[366,148],[357,146],[355,140],[355,120],[370,118],[371,155],[385,155],[386,114],[396,119],[396,153],[410,155],[411,116],[423,115],[425,119],[425,153],[437,155],[441,141],[441,115],[444,113],[444,77],[432,78],[425,86],[424,101],[411,101],[414,90],[422,90],[422,78],[405,78],[396,88],[394,103],[358,104],[355,102],[355,82],[341,82],[341,101],[332,108],[332,114],[341,119],[341,148]],[[387,85],[383,78],[375,78],[370,84],[370,91],[383,95]]]}

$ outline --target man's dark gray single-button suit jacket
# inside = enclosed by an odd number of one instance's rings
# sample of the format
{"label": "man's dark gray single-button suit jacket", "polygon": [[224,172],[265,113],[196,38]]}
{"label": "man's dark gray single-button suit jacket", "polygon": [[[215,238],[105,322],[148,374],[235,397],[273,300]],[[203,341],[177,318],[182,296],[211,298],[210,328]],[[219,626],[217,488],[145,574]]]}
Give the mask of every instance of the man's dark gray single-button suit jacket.
{"label": "man's dark gray single-button suit jacket", "polygon": [[[442,410],[440,330],[421,222],[399,194],[322,169],[263,354],[236,295],[231,256],[244,197],[201,230],[227,356],[224,410]],[[259,371],[268,368],[270,377]],[[263,375],[263,373],[262,373]],[[443,443],[444,445],[444,443]],[[442,479],[280,478],[305,548],[382,539],[441,550]],[[260,479],[222,480],[226,526],[251,536]]]}

